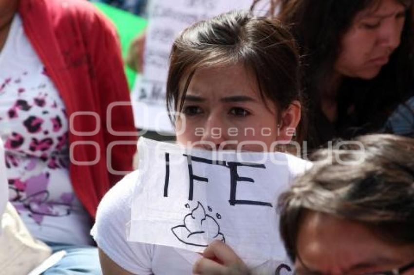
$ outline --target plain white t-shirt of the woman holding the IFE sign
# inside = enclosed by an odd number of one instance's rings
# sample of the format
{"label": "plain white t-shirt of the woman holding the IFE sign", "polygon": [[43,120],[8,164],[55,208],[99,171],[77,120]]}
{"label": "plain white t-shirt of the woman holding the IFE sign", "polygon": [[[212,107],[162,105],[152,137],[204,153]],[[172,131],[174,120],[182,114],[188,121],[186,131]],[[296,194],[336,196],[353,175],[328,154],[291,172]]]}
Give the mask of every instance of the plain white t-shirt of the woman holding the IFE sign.
{"label": "plain white t-shirt of the woman holding the IFE sign", "polygon": [[[296,172],[304,172],[309,162],[300,161]],[[127,241],[127,226],[131,221],[131,206],[138,171],[125,176],[102,199],[91,231],[98,246],[116,264],[132,274],[186,275],[200,255],[194,252],[139,242]],[[290,266],[289,266],[290,265]],[[282,262],[268,261],[256,267],[253,274],[293,274],[286,258]]]}

